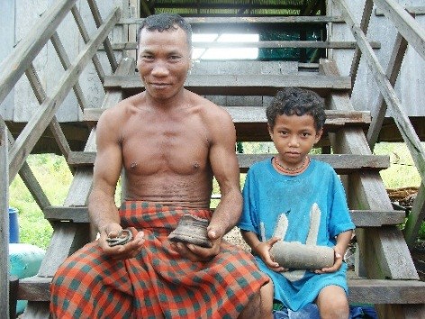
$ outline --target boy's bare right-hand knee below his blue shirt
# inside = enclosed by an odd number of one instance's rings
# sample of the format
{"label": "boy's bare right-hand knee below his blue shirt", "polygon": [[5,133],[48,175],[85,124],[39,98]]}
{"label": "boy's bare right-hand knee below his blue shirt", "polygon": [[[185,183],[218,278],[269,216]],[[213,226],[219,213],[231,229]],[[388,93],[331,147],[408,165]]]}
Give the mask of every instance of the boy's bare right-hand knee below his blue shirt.
{"label": "boy's bare right-hand knee below his blue shirt", "polygon": [[317,296],[316,304],[322,319],[348,319],[349,317],[348,299],[342,287],[324,287]]}

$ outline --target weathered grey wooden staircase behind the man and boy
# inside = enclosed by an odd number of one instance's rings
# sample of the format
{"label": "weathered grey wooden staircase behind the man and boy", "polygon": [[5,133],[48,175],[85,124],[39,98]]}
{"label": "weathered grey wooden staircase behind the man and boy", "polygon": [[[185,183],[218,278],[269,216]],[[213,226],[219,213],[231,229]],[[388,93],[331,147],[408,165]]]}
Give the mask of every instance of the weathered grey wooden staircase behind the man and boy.
{"label": "weathered grey wooden staircase behind the man and boy", "polygon": [[[72,2],[60,3],[63,5]],[[95,1],[89,3],[96,12]],[[63,10],[72,11],[77,15],[75,6],[68,6]],[[260,21],[264,23],[265,19],[262,18]],[[99,30],[107,26],[99,16],[95,20]],[[113,18],[107,19],[112,20]],[[340,18],[321,17],[321,20],[331,22]],[[220,19],[203,18],[203,22],[220,23]],[[270,18],[269,23],[271,22]],[[227,19],[222,23],[241,23],[241,20]],[[279,21],[273,20],[273,23]],[[91,48],[92,42],[87,39],[87,48]],[[110,48],[112,52],[110,43],[104,41],[102,35],[99,35],[93,44],[93,52],[101,43],[106,50]],[[95,53],[87,54],[80,60],[92,59],[93,56]],[[31,69],[31,60],[27,63],[27,67]],[[69,67],[71,68],[69,72],[72,72],[73,68]],[[102,105],[98,108],[83,108],[83,121],[92,127],[83,151],[67,148],[67,141],[60,134],[60,125],[54,117],[54,110],[47,117],[47,111],[41,113],[38,120],[36,118],[36,125],[27,125],[28,132],[21,133],[23,136],[27,134],[26,137],[18,138],[16,141],[9,139],[12,146],[10,158],[18,159],[17,162],[14,160],[9,162],[8,169],[12,172],[9,175],[14,178],[19,171],[24,180],[28,181],[27,185],[32,187],[45,218],[54,229],[38,275],[23,279],[19,283],[18,298],[29,300],[25,318],[49,317],[49,287],[56,269],[69,254],[93,238],[86,201],[92,187],[95,123],[104,109],[143,89],[140,77],[134,69],[134,61],[130,58],[124,57],[117,61],[113,75],[102,78],[105,91]],[[75,74],[77,75],[77,70]],[[68,90],[71,87],[76,88],[76,77],[69,77],[68,81],[65,80],[60,85],[58,92],[61,92],[61,96],[67,87]],[[2,78],[0,77],[0,80]],[[194,64],[186,81],[186,88],[206,96],[228,110],[235,123],[238,141],[270,141],[265,108],[279,87],[310,88],[326,99],[327,120],[321,144],[323,154],[313,157],[330,163],[343,179],[350,214],[357,226],[357,271],[348,279],[349,301],[374,304],[380,318],[425,317],[425,283],[419,280],[408,246],[398,228],[398,225],[403,223],[405,215],[402,211],[393,210],[379,175],[379,170],[389,167],[389,157],[372,154],[366,139],[367,129],[373,121],[371,114],[356,111],[351,105],[349,97],[352,89],[351,78],[341,77],[333,60],[321,59],[319,64],[308,66],[284,61],[202,61]],[[37,90],[37,87],[35,89]],[[41,92],[41,87],[38,87],[38,92]],[[41,95],[40,101],[41,110],[47,110],[55,99],[50,102],[50,97]],[[25,158],[35,142],[35,138],[30,135],[34,131],[41,132],[49,124],[52,130],[56,130],[57,140],[74,173],[63,206],[52,206],[48,200],[43,200],[40,187],[37,187],[36,182],[31,182],[31,170],[25,166]],[[40,136],[38,133],[35,135]],[[252,163],[270,156],[270,154],[238,154],[240,171],[246,172]]]}

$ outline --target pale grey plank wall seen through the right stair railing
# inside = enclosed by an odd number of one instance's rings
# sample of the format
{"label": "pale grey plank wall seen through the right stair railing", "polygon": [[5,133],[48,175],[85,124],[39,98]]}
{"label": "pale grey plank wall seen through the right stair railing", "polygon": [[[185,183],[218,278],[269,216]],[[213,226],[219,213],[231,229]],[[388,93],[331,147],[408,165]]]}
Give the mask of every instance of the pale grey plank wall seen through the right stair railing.
{"label": "pale grey plank wall seen through the right stair railing", "polygon": [[[423,8],[423,0],[399,0],[397,2],[404,7],[418,8],[415,19],[425,28],[425,15],[419,10],[419,8]],[[351,12],[356,15],[357,22],[360,23],[366,0],[350,0],[347,3]],[[328,1],[328,13],[340,15],[332,1]],[[393,51],[397,31],[393,23],[377,10],[376,5],[373,7],[366,34],[369,41],[380,41],[381,49],[375,50],[375,54],[381,65],[386,68]],[[354,41],[354,39],[347,25],[332,23],[330,41]],[[337,62],[341,76],[348,76],[353,54],[354,50],[330,50],[330,57]],[[409,48],[400,72],[395,89],[397,96],[402,101],[403,110],[409,116],[425,116],[425,108],[422,106],[422,101],[425,99],[425,60],[421,59],[415,50]],[[360,60],[358,74],[361,76],[357,77],[354,85],[351,96],[352,103],[356,110],[373,111],[371,108],[377,104],[378,88],[375,85],[373,73],[367,68],[364,58]]]}

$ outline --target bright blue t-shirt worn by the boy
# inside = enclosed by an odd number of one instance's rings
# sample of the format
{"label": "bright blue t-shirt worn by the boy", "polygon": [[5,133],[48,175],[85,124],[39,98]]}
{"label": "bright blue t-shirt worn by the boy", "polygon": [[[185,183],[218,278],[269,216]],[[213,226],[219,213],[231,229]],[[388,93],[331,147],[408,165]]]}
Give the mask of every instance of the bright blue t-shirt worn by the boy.
{"label": "bright blue t-shirt worn by the boy", "polygon": [[[310,227],[311,212],[317,227]],[[283,219],[286,227],[281,225]],[[309,244],[333,247],[335,236],[354,229],[355,225],[348,212],[344,187],[329,164],[311,160],[302,174],[286,176],[278,173],[269,159],[249,169],[239,227],[257,233],[261,241],[278,236],[285,242],[305,244],[310,234]],[[319,275],[300,269],[277,273],[268,269],[258,256],[256,260],[259,269],[273,280],[275,299],[294,311],[312,303],[323,287],[336,285],[348,292],[345,263],[337,272]]]}

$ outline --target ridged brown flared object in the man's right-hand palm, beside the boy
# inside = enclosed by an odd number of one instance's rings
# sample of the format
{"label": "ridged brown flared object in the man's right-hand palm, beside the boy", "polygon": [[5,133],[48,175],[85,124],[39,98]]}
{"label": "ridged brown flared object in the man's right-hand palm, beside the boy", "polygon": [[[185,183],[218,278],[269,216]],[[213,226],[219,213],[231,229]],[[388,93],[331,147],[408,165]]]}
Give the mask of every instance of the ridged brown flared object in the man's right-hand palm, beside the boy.
{"label": "ridged brown flared object in the man's right-hand palm, beside the boy", "polygon": [[171,242],[193,243],[194,245],[211,248],[212,242],[208,239],[206,228],[208,220],[192,214],[184,214],[176,229],[168,235]]}

